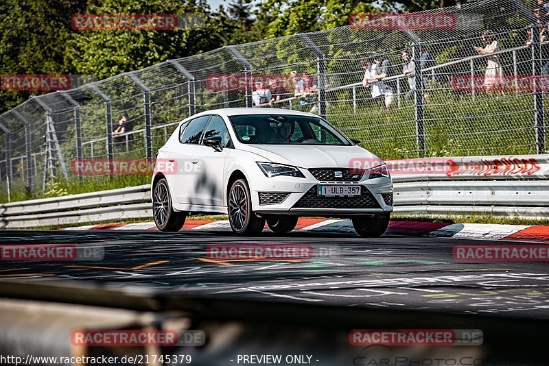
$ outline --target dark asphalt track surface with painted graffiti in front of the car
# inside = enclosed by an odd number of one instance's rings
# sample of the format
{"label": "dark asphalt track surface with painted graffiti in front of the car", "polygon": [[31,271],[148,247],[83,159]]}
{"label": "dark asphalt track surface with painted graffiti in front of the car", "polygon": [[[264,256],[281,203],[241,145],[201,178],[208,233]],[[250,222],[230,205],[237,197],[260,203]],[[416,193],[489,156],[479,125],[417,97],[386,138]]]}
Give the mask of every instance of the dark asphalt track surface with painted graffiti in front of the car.
{"label": "dark asphalt track surface with painted graffiti in front of the car", "polygon": [[[102,260],[2,261],[1,280],[83,281],[106,288],[145,287],[169,294],[379,309],[434,310],[549,319],[549,266],[456,263],[455,245],[511,245],[439,237],[296,232],[237,237],[230,232],[153,230],[3,231],[0,243],[69,244]],[[300,258],[213,256],[220,245],[312,249]]]}

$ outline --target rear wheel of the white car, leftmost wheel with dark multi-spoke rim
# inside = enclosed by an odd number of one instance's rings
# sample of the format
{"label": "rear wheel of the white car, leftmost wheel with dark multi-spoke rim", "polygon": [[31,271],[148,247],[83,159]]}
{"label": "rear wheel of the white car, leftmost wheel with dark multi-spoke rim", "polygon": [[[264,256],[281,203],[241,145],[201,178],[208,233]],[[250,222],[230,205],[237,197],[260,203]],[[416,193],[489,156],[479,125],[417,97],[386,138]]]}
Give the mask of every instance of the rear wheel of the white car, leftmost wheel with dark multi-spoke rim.
{"label": "rear wheel of the white car, leftmost wheel with dark multi-spoke rim", "polygon": [[156,228],[165,232],[176,232],[183,228],[187,212],[175,211],[172,208],[172,197],[167,181],[162,178],[154,186],[152,193],[152,215]]}

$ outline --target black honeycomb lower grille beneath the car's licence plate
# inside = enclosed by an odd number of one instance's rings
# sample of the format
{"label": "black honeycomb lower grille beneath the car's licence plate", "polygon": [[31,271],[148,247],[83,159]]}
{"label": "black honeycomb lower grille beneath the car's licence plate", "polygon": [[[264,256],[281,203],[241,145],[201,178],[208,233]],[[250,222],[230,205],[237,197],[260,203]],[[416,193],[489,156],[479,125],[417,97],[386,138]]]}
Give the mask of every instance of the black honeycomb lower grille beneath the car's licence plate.
{"label": "black honeycomb lower grille beneath the car's licence plate", "polygon": [[318,186],[312,186],[293,208],[379,208],[372,193],[362,186],[360,196],[323,197],[317,195]]}

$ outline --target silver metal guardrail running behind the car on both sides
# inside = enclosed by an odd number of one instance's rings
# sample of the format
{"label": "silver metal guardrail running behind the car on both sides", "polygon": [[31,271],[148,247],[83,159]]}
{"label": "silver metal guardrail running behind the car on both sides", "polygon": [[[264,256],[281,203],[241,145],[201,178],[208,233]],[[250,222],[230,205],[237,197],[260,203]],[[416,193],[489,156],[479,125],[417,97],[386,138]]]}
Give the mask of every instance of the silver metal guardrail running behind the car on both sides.
{"label": "silver metal guardrail running behind the car on both sides", "polygon": [[[389,160],[388,166],[395,168],[397,213],[549,218],[549,155]],[[423,173],[405,170],[427,166]],[[0,218],[4,229],[152,219],[150,184],[2,204]]]}

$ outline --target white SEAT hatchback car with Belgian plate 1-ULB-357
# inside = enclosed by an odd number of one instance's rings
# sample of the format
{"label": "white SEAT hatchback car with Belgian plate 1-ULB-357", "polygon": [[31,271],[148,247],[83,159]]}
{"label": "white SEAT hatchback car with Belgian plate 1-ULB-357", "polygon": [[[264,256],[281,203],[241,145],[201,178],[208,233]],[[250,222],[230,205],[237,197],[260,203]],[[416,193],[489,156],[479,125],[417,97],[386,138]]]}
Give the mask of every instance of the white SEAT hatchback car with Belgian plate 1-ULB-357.
{"label": "white SEAT hatchback car with Belgian plate 1-ULB-357", "polygon": [[182,121],[159,149],[154,222],[178,231],[191,213],[223,213],[236,234],[258,234],[265,221],[282,234],[300,216],[341,217],[352,219],[362,236],[382,235],[393,211],[393,182],[386,164],[359,143],[311,113],[201,112]]}

